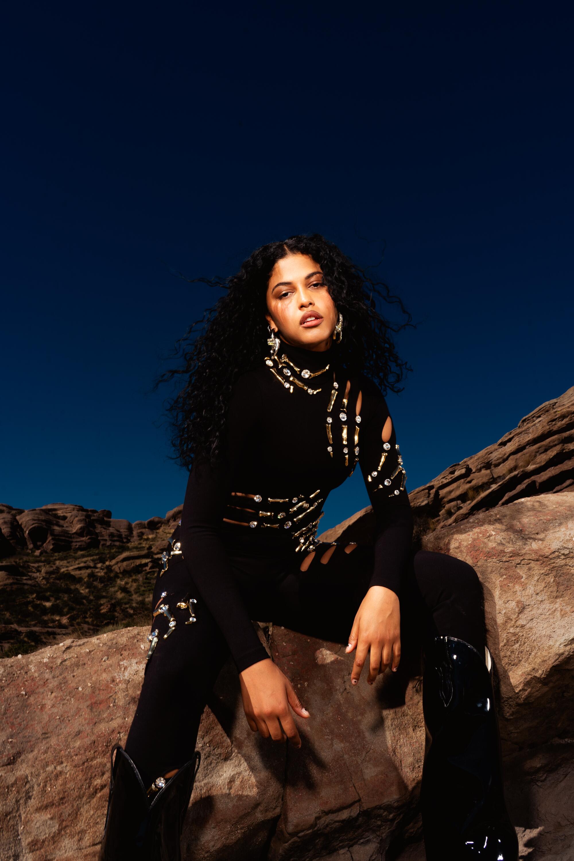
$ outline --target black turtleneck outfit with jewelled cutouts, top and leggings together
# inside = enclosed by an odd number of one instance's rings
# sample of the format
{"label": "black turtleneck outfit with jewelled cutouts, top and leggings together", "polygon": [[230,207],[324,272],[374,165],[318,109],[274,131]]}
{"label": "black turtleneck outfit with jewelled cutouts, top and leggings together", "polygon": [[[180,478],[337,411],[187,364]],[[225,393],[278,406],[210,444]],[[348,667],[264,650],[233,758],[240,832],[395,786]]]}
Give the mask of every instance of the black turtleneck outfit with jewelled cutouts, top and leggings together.
{"label": "black turtleneck outfit with jewelled cutouts, top and leggings together", "polygon": [[[386,401],[373,381],[338,366],[337,350],[281,341],[284,360],[262,354],[232,387],[225,455],[192,468],[152,598],[149,660],[126,744],[146,786],[193,758],[201,713],[229,654],[239,672],[268,658],[252,619],[346,644],[368,588],[382,585],[400,598],[404,645],[423,631],[485,654],[478,577],[453,557],[413,554],[394,424],[382,439]],[[341,544],[324,563],[330,544],[316,538],[324,500],[357,463],[376,537],[349,553]]]}

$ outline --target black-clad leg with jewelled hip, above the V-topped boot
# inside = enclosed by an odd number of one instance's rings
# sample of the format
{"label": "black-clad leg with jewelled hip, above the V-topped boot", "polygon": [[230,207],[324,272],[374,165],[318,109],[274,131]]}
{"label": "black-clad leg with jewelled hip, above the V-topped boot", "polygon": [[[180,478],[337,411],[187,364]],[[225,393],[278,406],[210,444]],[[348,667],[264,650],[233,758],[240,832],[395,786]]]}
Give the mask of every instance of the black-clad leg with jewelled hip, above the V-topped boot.
{"label": "black-clad leg with jewelled hip, above the V-topped boot", "polygon": [[[189,605],[191,598],[196,603]],[[159,607],[167,610],[153,618],[157,643],[145,666],[126,741],[126,753],[146,788],[192,758],[201,714],[228,656],[223,635],[182,561],[172,558],[164,575],[157,577],[152,606],[155,612]],[[176,622],[171,629],[170,616]],[[195,622],[189,621],[192,616]]]}

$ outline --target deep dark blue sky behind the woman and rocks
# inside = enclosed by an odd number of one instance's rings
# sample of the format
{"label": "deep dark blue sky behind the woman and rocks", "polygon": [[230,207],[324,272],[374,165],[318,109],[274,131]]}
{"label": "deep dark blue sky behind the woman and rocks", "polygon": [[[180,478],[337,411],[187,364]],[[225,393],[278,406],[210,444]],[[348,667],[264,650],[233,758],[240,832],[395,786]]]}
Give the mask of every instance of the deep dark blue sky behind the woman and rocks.
{"label": "deep dark blue sky behind the woman and rocks", "polygon": [[[179,504],[147,392],[219,291],[169,267],[295,232],[384,246],[420,321],[389,397],[410,489],[574,383],[571,4],[197,6],[4,21],[1,502]],[[357,470],[325,528],[363,505]]]}

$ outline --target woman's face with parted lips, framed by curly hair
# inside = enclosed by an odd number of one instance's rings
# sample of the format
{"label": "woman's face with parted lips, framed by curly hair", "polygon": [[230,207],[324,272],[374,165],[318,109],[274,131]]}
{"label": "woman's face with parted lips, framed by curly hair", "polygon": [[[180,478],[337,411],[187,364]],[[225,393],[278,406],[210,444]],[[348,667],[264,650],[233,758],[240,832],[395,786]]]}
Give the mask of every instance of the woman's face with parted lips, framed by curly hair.
{"label": "woman's face with parted lips, framed by curly hair", "polygon": [[312,257],[290,254],[275,263],[267,308],[268,324],[287,344],[318,351],[330,347],[338,314],[321,267]]}

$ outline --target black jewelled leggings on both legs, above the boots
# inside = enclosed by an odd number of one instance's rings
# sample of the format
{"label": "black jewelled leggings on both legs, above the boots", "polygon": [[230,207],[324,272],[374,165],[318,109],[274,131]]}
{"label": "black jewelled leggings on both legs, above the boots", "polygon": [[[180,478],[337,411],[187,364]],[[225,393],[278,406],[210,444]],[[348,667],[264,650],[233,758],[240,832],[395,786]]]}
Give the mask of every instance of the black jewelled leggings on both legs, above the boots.
{"label": "black jewelled leggings on both legs, above the boots", "polygon": [[[360,544],[347,553],[343,544],[337,544],[326,563],[321,557],[331,545],[319,544],[306,571],[300,571],[300,560],[275,578],[252,577],[234,568],[251,618],[346,645],[356,611],[367,593],[373,547]],[[170,610],[188,594],[196,598],[193,607],[197,621],[186,625],[189,614],[176,610],[176,628],[167,640],[167,618],[156,616],[153,621],[152,629],[159,631],[157,646],[145,667],[126,741],[126,752],[145,786],[193,756],[201,714],[229,657],[225,639],[182,561],[172,557],[168,570],[157,578],[153,608],[162,592],[167,592],[164,602]],[[484,654],[482,587],[474,568],[466,562],[418,551],[405,573],[400,608],[402,664],[409,652],[418,649],[420,653],[424,636],[458,637]]]}

